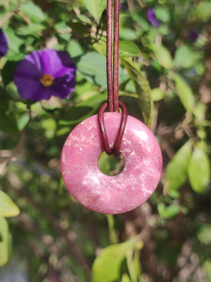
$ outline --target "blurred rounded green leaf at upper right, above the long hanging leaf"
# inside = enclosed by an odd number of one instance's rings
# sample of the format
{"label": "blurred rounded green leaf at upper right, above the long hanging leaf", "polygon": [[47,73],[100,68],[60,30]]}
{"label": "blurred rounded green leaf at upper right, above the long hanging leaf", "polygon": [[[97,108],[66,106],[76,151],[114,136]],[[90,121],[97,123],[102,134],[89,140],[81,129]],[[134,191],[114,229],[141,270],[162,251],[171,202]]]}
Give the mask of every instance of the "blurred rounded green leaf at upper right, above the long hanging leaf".
{"label": "blurred rounded green leaf at upper right, above the long hanging leaf", "polygon": [[174,56],[173,64],[178,67],[188,68],[194,64],[194,53],[187,45],[180,46]]}

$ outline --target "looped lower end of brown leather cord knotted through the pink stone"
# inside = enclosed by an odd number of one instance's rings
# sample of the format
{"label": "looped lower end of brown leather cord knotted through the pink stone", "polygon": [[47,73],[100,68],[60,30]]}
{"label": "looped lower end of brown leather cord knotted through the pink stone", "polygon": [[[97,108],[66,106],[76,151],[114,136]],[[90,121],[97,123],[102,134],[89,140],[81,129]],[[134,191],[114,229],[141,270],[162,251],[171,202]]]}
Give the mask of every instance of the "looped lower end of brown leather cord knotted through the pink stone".
{"label": "looped lower end of brown leather cord knotted through the pink stone", "polygon": [[122,119],[121,119],[118,135],[117,135],[117,138],[115,140],[113,148],[111,148],[110,145],[109,145],[109,140],[108,140],[108,137],[107,137],[107,134],[106,134],[106,131],[105,131],[104,116],[103,116],[104,111],[108,107],[108,102],[105,102],[104,104],[102,104],[100,109],[99,109],[99,114],[98,114],[99,129],[100,129],[100,134],[101,134],[101,137],[102,137],[104,151],[105,151],[105,153],[107,153],[107,155],[113,154],[114,156],[119,156],[120,147],[121,147],[121,144],[122,144],[122,138],[123,138],[123,134],[124,134],[124,131],[125,131],[125,125],[126,125],[126,122],[127,122],[127,108],[126,108],[125,104],[121,101],[119,101],[118,104],[119,104],[119,108],[122,110]]}

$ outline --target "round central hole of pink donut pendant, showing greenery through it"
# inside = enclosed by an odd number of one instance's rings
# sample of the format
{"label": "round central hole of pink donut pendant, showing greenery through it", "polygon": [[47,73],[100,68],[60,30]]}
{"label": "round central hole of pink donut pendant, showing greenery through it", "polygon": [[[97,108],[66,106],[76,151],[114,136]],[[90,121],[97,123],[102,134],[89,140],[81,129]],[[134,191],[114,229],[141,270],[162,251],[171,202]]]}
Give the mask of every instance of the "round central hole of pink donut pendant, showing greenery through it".
{"label": "round central hole of pink donut pendant, showing greenery through it", "polygon": [[117,175],[119,174],[125,166],[125,159],[122,154],[119,156],[107,155],[107,153],[102,152],[98,158],[98,167],[100,171],[105,175]]}

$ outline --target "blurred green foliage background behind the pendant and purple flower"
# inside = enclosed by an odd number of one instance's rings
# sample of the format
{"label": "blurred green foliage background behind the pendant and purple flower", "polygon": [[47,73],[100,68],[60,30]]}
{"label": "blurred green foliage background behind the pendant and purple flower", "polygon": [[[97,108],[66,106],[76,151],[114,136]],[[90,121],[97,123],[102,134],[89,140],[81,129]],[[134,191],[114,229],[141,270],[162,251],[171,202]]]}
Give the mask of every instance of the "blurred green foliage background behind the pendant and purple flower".
{"label": "blurred green foliage background behind the pendant and purple flower", "polygon": [[[106,216],[64,187],[65,138],[107,99],[105,6],[1,1],[9,52],[0,62],[0,274],[13,250],[34,282],[211,281],[210,1],[121,2],[120,99],[159,141],[163,174],[154,194],[129,213]],[[69,100],[19,96],[17,62],[43,48],[66,50],[76,62]],[[105,172],[116,169],[102,162]]]}

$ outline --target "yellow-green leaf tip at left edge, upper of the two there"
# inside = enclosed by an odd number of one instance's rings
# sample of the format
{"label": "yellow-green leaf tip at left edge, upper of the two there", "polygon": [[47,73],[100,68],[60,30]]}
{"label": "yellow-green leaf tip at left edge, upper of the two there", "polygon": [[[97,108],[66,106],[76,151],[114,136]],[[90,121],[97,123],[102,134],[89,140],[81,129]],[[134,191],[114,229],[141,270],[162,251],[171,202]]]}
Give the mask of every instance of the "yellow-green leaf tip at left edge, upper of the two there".
{"label": "yellow-green leaf tip at left edge, upper of the two there", "polygon": [[15,217],[20,214],[18,206],[0,190],[0,217]]}

